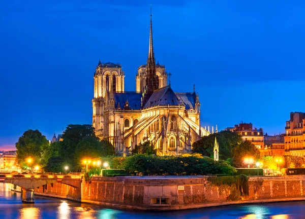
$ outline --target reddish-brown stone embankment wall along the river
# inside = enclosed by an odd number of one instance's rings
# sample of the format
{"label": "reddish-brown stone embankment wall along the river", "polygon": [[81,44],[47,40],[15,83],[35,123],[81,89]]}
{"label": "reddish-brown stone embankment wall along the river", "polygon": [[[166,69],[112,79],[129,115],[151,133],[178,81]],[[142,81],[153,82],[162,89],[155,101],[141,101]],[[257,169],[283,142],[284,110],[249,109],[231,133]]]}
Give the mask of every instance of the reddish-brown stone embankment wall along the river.
{"label": "reddish-brown stone embankment wall along the river", "polygon": [[250,177],[249,195],[237,200],[229,198],[233,190],[211,185],[208,176],[92,177],[82,181],[81,189],[54,183],[35,189],[35,194],[131,209],[190,209],[305,200],[305,175]]}

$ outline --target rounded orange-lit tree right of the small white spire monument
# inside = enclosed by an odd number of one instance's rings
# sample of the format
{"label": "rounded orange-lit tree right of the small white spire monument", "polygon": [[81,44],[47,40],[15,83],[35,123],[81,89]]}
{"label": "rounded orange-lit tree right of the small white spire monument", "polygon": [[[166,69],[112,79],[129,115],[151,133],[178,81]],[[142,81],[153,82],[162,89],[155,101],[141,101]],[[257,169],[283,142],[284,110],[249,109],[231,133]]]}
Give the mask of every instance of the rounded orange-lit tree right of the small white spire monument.
{"label": "rounded orange-lit tree right of the small white spire monument", "polygon": [[[246,157],[251,157],[254,161],[258,160],[260,157],[259,150],[248,140],[235,146],[232,152],[234,167],[248,167],[248,164],[244,162]],[[254,164],[252,164],[252,166],[254,166]]]}

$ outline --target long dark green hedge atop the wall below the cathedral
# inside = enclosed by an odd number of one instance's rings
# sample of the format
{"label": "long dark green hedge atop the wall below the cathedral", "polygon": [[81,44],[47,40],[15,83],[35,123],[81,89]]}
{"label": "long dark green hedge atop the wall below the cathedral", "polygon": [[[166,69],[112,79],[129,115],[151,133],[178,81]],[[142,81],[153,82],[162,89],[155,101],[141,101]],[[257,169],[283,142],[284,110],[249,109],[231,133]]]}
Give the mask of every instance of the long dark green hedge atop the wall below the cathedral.
{"label": "long dark green hedge atop the wall below the cathedral", "polygon": [[226,161],[203,157],[157,157],[134,155],[127,157],[124,169],[142,175],[206,175],[236,171]]}

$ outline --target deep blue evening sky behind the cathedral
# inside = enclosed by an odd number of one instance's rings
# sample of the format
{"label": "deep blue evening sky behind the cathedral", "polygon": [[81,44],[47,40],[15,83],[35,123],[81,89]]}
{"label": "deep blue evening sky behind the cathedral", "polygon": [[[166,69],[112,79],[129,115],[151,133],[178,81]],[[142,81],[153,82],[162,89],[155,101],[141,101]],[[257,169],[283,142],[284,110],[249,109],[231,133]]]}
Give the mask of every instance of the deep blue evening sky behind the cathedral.
{"label": "deep blue evening sky behind the cathedral", "polygon": [[202,126],[252,122],[283,133],[304,112],[303,1],[4,1],[0,7],[0,149],[27,129],[48,139],[92,123],[93,73],[120,62],[126,91],[148,51],[175,92],[196,92]]}

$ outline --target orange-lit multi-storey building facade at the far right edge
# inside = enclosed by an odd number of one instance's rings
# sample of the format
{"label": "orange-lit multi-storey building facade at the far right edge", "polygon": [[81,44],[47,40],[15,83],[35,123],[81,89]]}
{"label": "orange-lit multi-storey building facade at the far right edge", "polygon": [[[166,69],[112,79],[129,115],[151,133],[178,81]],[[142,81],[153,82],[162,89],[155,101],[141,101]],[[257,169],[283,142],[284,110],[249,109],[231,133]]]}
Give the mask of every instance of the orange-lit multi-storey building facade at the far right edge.
{"label": "orange-lit multi-storey building facade at the far right edge", "polygon": [[305,156],[305,113],[290,113],[286,122],[285,155]]}

